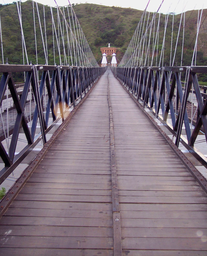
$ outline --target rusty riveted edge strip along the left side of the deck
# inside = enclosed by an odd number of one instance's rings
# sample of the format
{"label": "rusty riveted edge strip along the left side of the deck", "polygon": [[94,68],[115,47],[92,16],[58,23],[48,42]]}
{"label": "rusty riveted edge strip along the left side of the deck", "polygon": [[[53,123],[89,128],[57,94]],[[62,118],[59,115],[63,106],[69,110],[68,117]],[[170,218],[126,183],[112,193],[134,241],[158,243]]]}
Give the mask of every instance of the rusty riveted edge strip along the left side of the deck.
{"label": "rusty riveted edge strip along the left side of the deck", "polygon": [[[101,76],[99,77],[99,79],[101,78]],[[12,185],[12,187],[8,190],[6,195],[0,201],[0,218],[3,216],[4,212],[8,209],[9,205],[12,203],[15,197],[18,195],[19,191],[23,188],[28,178],[30,178],[31,174],[34,172],[39,162],[47,153],[47,150],[52,146],[54,140],[60,135],[65,126],[69,123],[70,119],[76,113],[77,109],[83,104],[85,99],[87,99],[88,95],[91,93],[99,79],[93,84],[91,89],[87,92],[85,97],[78,103],[78,105],[76,105],[75,108],[70,112],[69,116],[66,117],[65,121],[57,128],[57,130],[53,133],[48,142],[43,146],[42,150],[38,153],[37,157],[31,161],[31,163],[26,167],[26,169],[24,169],[21,176],[18,178],[18,180],[16,180],[14,185]]]}

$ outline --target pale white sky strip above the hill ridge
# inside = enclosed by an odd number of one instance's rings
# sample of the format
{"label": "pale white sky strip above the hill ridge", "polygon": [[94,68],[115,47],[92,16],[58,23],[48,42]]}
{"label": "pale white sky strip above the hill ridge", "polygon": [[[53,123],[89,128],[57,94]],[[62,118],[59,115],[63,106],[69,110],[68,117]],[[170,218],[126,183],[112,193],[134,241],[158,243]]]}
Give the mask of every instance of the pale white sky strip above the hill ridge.
{"label": "pale white sky strip above the hill ridge", "polygon": [[[26,0],[22,0],[25,2]],[[92,4],[102,4],[108,6],[117,6],[124,8],[134,8],[138,10],[144,10],[149,0],[71,0],[70,3],[92,3]],[[150,0],[150,4],[147,8],[148,11],[154,12],[157,11],[162,0]],[[12,3],[14,0],[0,0],[1,4]],[[38,3],[55,6],[54,0],[37,0]],[[172,4],[171,4],[172,3]],[[57,0],[57,4],[68,5],[68,0]],[[180,13],[184,9],[185,11],[189,10],[198,10],[198,9],[207,9],[207,0],[164,0],[160,12],[176,12]]]}

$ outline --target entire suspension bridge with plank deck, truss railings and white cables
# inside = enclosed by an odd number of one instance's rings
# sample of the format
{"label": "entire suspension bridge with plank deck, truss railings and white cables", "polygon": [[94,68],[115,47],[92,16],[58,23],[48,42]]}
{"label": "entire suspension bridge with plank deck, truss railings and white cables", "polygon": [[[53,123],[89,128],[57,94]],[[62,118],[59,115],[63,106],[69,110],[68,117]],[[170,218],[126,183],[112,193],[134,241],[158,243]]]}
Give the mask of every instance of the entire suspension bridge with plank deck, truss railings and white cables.
{"label": "entire suspension bridge with plank deck, truss railings and white cables", "polygon": [[[205,10],[183,65],[185,12],[176,32],[168,12],[162,33],[163,2],[143,11],[118,67],[99,67],[70,4],[57,5],[57,19],[48,9],[50,41],[46,8],[30,3],[35,64],[21,2],[23,64],[4,64],[0,26],[2,186],[42,144],[0,201],[0,255],[207,254],[207,181],[199,170],[207,167],[207,88],[199,83],[207,67],[196,66]],[[166,37],[168,25],[176,40]]]}

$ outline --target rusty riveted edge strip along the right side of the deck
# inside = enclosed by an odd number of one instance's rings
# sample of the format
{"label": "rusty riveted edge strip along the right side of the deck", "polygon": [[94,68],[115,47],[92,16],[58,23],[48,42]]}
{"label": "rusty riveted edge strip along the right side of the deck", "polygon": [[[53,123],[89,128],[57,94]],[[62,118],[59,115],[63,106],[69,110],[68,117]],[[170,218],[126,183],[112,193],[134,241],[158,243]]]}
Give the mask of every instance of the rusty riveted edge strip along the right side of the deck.
{"label": "rusty riveted edge strip along the right side of the deck", "polygon": [[[115,75],[114,75],[115,77]],[[116,77],[115,77],[116,78]],[[116,78],[117,79],[117,78]],[[172,148],[174,153],[177,155],[177,157],[181,160],[181,162],[185,165],[185,167],[188,169],[188,171],[192,174],[192,176],[195,178],[195,180],[199,183],[199,185],[202,187],[202,189],[207,194],[207,180],[206,178],[196,169],[195,166],[189,161],[189,159],[183,154],[183,152],[176,147],[175,143],[172,142],[172,140],[168,137],[168,135],[162,131],[160,126],[156,123],[153,117],[151,117],[143,108],[143,106],[137,101],[137,99],[130,93],[130,91],[127,90],[127,88],[120,82],[119,79],[117,79],[119,83],[122,85],[124,90],[130,95],[130,97],[134,100],[134,102],[138,105],[138,107],[142,110],[143,113],[146,114],[146,116],[152,121],[154,126],[157,128],[157,130],[160,132],[163,138],[165,138],[168,145]]]}

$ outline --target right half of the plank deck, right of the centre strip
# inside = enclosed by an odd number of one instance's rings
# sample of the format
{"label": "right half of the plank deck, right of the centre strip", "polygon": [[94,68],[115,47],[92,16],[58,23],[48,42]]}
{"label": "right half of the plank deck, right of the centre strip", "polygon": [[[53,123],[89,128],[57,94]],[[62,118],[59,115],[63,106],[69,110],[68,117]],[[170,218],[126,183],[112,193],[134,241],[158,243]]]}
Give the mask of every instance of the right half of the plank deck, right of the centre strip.
{"label": "right half of the plank deck, right of the centre strip", "polygon": [[207,255],[206,193],[112,75],[110,82],[123,255]]}

